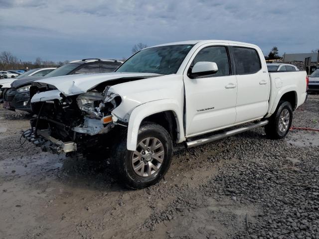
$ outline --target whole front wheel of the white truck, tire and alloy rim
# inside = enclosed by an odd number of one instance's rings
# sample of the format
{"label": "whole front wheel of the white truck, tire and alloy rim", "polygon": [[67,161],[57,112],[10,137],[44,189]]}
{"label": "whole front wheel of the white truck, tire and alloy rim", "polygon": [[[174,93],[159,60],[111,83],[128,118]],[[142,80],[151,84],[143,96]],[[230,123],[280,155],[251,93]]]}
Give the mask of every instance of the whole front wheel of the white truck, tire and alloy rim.
{"label": "whole front wheel of the white truck, tire and alloy rim", "polygon": [[114,174],[132,189],[153,185],[167,172],[172,148],[165,128],[152,122],[143,123],[135,151],[127,150],[127,133],[122,134],[119,144],[112,149]]}

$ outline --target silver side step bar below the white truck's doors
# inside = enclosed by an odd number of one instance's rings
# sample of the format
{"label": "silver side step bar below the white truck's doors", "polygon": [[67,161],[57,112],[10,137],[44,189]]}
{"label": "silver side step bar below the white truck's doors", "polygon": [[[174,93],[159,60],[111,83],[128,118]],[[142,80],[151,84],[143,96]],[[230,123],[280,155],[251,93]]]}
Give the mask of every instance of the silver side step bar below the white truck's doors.
{"label": "silver side step bar below the white truck's doors", "polygon": [[218,134],[215,134],[215,135],[212,135],[212,136],[209,136],[209,137],[204,137],[204,138],[196,139],[196,140],[193,140],[193,141],[190,140],[190,141],[186,142],[186,147],[187,148],[191,148],[191,147],[195,147],[195,146],[198,146],[198,145],[201,145],[201,144],[204,144],[204,143],[209,143],[209,142],[212,142],[212,141],[215,141],[215,140],[218,140],[218,139],[222,139],[222,138],[225,138],[225,137],[228,137],[228,136],[235,135],[237,133],[245,132],[245,131],[253,129],[253,128],[258,128],[258,127],[264,126],[267,123],[268,123],[268,120],[264,120],[264,121],[260,121],[258,123],[252,124],[250,126],[247,126],[247,127],[241,127],[241,128],[232,129],[232,130],[229,130],[227,132],[218,133]]}

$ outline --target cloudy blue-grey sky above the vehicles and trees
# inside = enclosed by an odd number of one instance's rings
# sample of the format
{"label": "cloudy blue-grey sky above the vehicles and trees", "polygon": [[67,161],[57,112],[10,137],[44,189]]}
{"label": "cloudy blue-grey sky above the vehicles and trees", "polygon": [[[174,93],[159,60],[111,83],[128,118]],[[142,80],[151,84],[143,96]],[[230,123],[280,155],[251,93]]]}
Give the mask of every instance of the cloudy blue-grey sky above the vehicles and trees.
{"label": "cloudy blue-grey sky above the vehicles and trees", "polygon": [[139,42],[224,39],[268,55],[319,48],[319,0],[0,0],[0,52],[121,59]]}

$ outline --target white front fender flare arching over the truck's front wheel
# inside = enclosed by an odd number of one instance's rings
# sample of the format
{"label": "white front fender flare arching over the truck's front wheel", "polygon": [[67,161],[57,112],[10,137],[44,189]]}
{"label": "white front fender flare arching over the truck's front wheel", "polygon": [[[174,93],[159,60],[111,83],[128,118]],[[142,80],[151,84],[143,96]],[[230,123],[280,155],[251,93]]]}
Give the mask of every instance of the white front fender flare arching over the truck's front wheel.
{"label": "white front fender flare arching over the truck's front wheel", "polygon": [[136,107],[130,116],[128,125],[127,149],[136,150],[138,133],[141,122],[148,116],[156,113],[172,111],[177,125],[177,142],[184,140],[182,108],[176,100],[164,99],[142,104]]}

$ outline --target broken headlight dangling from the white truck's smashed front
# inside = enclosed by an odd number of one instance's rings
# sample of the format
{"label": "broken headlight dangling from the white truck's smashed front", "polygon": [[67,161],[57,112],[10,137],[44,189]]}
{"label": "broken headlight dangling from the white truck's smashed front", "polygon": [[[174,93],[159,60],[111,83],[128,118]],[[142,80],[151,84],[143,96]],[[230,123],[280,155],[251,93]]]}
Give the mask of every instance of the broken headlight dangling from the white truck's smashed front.
{"label": "broken headlight dangling from the white truck's smashed front", "polygon": [[103,117],[99,110],[100,107],[103,107],[103,100],[104,97],[98,92],[87,92],[76,98],[76,102],[81,111],[98,119]]}

